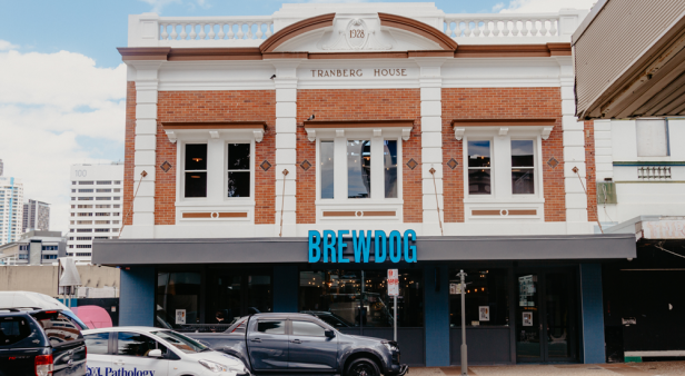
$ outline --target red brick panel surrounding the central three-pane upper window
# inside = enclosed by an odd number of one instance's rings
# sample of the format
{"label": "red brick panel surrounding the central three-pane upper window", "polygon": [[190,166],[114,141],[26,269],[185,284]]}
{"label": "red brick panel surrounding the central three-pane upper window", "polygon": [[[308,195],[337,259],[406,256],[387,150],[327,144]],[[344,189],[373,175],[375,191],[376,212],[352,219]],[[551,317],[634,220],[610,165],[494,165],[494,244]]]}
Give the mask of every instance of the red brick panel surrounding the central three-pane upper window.
{"label": "red brick panel surrounding the central three-pane upper window", "polygon": [[312,165],[307,171],[299,167],[297,171],[298,224],[316,222],[316,150],[302,128],[304,120],[311,113],[316,115],[316,120],[416,119],[411,138],[403,142],[404,221],[421,221],[420,166],[414,170],[406,166],[411,158],[421,162],[419,89],[298,90],[297,160],[298,165],[305,159]]}

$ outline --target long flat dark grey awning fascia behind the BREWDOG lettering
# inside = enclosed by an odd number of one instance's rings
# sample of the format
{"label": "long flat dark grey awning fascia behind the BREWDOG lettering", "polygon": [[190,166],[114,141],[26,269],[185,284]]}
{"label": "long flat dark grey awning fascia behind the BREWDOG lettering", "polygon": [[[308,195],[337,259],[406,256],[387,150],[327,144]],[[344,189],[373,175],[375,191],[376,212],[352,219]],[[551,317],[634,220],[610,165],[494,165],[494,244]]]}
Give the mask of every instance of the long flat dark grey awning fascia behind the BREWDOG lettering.
{"label": "long flat dark grey awning fascia behind the BREWDOG lettering", "polygon": [[[603,260],[635,257],[633,234],[418,237],[418,261]],[[351,251],[351,240],[347,251]],[[308,263],[307,238],[95,240],[92,264]]]}

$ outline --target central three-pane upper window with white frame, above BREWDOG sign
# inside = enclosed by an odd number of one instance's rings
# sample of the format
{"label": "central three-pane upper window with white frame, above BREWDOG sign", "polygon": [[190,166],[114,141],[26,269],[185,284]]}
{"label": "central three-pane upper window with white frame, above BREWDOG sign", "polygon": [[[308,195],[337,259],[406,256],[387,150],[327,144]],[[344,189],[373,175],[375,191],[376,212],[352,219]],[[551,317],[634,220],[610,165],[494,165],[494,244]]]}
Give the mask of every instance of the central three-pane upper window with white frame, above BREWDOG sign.
{"label": "central three-pane upper window with white frame, above BREWDOG sign", "polygon": [[401,140],[413,120],[311,121],[317,144],[317,217],[401,219]]}

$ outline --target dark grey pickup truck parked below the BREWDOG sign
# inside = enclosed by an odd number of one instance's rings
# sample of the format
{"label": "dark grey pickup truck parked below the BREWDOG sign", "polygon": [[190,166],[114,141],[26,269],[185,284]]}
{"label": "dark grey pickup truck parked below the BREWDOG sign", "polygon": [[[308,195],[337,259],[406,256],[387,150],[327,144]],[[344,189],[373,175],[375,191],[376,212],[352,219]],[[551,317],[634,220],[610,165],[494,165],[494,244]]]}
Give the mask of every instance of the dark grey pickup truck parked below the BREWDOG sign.
{"label": "dark grey pickup truck parked below the BREWDOG sign", "polygon": [[404,376],[397,343],[343,334],[306,314],[257,314],[224,333],[187,333],[240,358],[256,375]]}

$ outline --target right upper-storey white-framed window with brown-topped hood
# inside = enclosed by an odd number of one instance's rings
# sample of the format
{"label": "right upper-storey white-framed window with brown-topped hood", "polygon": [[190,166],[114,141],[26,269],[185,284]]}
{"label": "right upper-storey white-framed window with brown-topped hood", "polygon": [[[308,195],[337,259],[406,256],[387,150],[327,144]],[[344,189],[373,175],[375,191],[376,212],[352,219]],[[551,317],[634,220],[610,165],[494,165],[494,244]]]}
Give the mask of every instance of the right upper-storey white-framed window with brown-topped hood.
{"label": "right upper-storey white-framed window with brown-topped hood", "polygon": [[[555,122],[555,119],[453,121],[455,137],[464,141],[465,220],[544,220],[543,142]],[[553,160],[553,165],[557,166],[558,160]]]}

